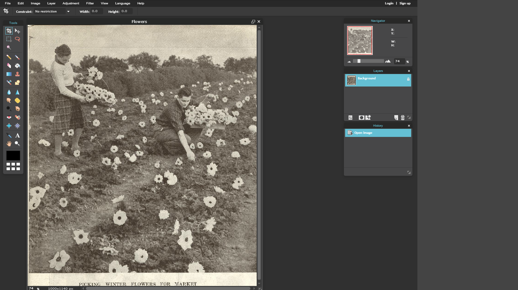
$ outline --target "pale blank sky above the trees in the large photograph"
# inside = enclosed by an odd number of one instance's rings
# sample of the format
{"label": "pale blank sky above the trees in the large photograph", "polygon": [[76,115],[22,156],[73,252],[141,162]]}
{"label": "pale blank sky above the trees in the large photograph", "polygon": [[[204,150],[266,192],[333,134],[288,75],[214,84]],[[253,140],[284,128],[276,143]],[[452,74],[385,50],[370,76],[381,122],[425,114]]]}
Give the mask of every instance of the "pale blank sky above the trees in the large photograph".
{"label": "pale blank sky above the trees in the large photograph", "polygon": [[89,54],[127,59],[147,52],[159,57],[159,65],[171,55],[210,55],[224,66],[228,57],[254,57],[257,50],[254,25],[34,25],[28,35],[34,37],[28,57],[47,69],[62,44],[70,46],[75,65]]}

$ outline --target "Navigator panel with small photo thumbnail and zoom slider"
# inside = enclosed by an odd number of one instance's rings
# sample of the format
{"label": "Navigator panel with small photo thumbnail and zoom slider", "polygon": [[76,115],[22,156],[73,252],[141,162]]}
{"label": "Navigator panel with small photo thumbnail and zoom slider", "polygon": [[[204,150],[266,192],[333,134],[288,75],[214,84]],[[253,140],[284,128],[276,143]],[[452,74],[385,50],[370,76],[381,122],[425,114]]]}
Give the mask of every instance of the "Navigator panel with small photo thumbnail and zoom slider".
{"label": "Navigator panel with small photo thumbnail and zoom slider", "polygon": [[346,18],[344,66],[412,66],[411,18]]}

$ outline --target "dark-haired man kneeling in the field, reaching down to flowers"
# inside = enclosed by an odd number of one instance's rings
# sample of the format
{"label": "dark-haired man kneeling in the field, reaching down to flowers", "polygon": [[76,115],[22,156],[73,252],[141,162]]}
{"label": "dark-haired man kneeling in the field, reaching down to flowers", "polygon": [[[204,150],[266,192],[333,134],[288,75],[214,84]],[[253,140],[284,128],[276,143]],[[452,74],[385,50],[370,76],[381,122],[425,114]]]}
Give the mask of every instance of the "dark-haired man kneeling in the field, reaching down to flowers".
{"label": "dark-haired man kneeling in the field, reaching down to flowers", "polygon": [[[187,153],[187,158],[194,161],[194,152],[189,144],[195,142],[202,133],[201,128],[191,128],[184,124],[185,109],[188,106],[199,104],[191,100],[193,93],[189,88],[181,88],[178,91],[178,98],[172,104],[166,106],[165,110],[156,118],[154,138],[161,143],[170,154]],[[192,137],[191,137],[192,136]]]}

